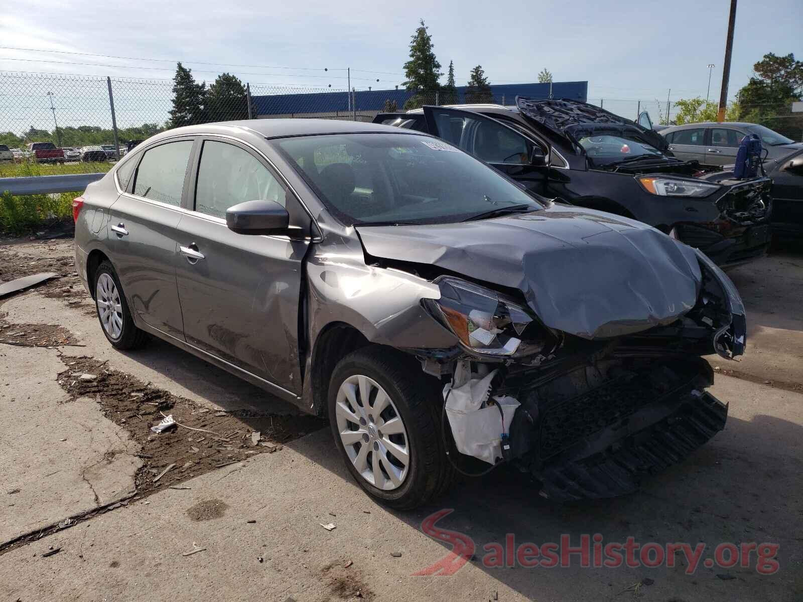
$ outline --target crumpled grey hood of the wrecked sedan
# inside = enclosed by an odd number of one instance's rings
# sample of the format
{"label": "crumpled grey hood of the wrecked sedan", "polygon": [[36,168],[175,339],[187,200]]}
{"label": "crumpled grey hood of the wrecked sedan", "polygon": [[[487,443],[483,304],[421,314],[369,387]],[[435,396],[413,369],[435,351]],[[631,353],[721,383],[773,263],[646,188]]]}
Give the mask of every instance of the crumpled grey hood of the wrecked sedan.
{"label": "crumpled grey hood of the wrecked sedan", "polygon": [[695,251],[658,230],[593,209],[427,226],[357,226],[377,258],[432,264],[516,288],[548,327],[593,339],[670,323],[694,307]]}

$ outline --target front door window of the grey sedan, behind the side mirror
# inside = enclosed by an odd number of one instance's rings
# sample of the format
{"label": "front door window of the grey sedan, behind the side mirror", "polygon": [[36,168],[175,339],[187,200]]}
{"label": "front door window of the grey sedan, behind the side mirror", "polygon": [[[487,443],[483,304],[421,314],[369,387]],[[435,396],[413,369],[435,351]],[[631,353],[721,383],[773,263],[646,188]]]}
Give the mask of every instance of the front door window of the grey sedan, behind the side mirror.
{"label": "front door window of the grey sedan, behind the side mirror", "polygon": [[285,188],[256,157],[243,148],[206,140],[198,166],[195,210],[226,218],[226,209],[245,201],[285,203]]}

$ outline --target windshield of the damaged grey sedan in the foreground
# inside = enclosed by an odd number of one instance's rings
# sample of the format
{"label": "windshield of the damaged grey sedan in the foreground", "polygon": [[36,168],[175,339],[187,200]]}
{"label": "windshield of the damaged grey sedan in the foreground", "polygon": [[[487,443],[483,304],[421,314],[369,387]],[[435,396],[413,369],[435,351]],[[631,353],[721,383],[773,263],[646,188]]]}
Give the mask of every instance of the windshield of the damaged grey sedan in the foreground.
{"label": "windshield of the damaged grey sedan in the foreground", "polygon": [[298,136],[277,144],[348,226],[462,222],[505,207],[543,206],[483,162],[429,136]]}

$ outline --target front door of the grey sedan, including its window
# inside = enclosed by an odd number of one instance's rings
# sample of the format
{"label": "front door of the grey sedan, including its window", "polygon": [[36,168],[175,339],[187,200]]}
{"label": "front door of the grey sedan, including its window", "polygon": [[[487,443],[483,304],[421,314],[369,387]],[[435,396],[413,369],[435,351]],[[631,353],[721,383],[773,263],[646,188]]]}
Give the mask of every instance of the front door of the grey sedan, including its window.
{"label": "front door of the grey sedan, including its window", "polygon": [[225,139],[203,140],[193,180],[175,264],[187,343],[299,394],[301,262],[309,242],[226,227],[231,205],[286,205],[296,197],[259,153]]}

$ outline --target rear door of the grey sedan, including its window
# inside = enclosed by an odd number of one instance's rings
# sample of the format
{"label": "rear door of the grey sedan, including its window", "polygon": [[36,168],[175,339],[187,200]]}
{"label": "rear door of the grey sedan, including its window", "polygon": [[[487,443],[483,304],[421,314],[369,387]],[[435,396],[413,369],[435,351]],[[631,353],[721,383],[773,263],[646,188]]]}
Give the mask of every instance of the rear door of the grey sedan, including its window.
{"label": "rear door of the grey sedan, including its window", "polygon": [[145,150],[132,181],[124,183],[126,192],[109,209],[112,263],[128,307],[150,327],[181,340],[176,228],[193,144],[191,138],[173,140]]}

